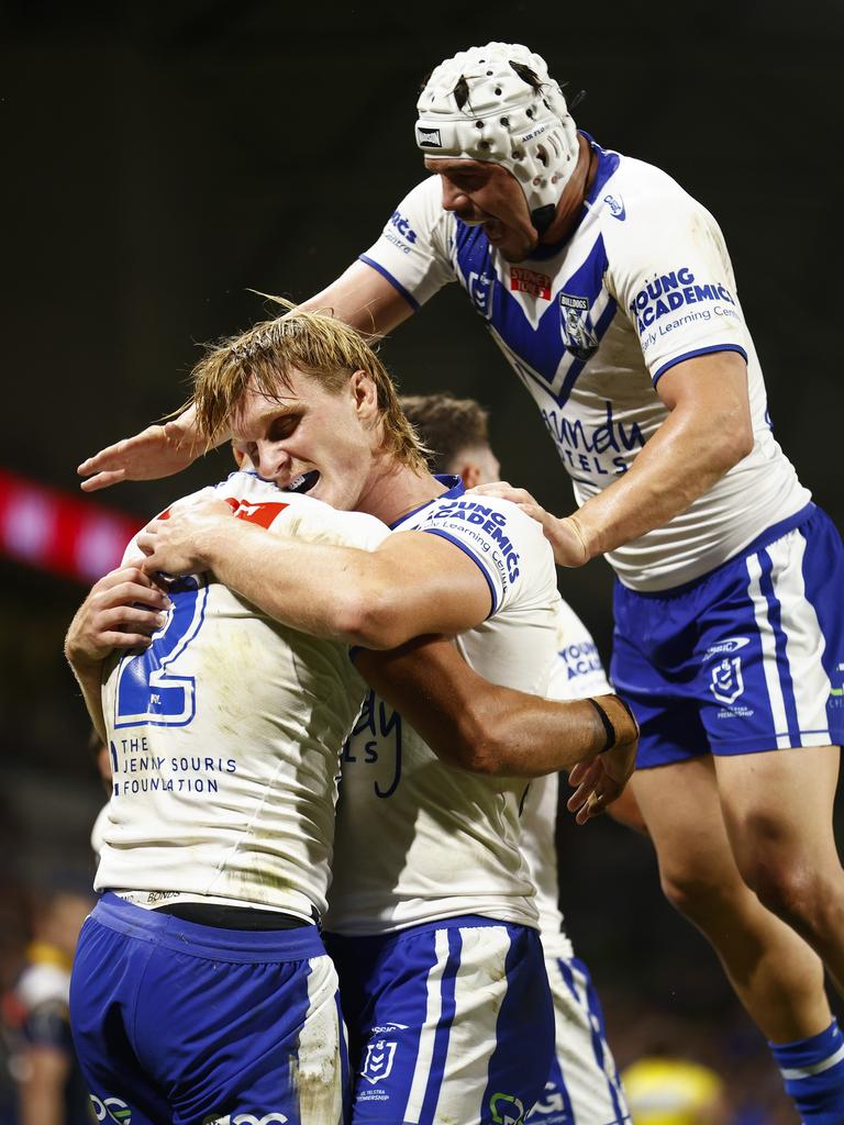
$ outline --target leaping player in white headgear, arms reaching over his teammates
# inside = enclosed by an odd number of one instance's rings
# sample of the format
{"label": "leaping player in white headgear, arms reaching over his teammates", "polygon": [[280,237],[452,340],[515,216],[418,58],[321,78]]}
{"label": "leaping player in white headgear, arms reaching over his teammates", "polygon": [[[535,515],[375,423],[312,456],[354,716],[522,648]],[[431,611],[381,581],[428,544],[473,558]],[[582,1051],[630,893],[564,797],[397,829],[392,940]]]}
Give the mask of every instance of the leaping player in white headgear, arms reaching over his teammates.
{"label": "leaping player in white headgear, arms reaching over his teammates", "polygon": [[[643,723],[635,792],[665,892],[803,1119],[844,1120],[824,992],[824,966],[844,991],[842,547],[773,438],[721,232],[671,177],[576,130],[520,44],[446,60],[419,111],[430,177],[305,307],[385,333],[442,286],[466,290],[581,507],[557,519],[503,494],[560,565],[605,554],[618,574],[611,675]],[[174,471],[196,436],[188,414],[80,471],[89,488]]]}

